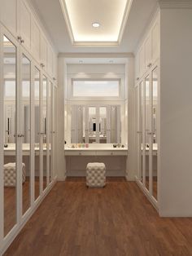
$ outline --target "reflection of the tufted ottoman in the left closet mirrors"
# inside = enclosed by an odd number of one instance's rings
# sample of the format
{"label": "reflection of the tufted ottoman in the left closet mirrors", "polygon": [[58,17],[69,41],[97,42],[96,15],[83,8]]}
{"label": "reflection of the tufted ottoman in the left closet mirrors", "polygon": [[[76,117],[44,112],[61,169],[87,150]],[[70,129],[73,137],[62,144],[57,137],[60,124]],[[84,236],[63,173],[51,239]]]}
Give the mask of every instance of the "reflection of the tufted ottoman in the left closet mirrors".
{"label": "reflection of the tufted ottoman in the left closet mirrors", "polygon": [[[4,186],[15,187],[16,184],[16,167],[15,163],[8,163],[4,165]],[[22,183],[25,181],[25,164],[22,163]]]}

